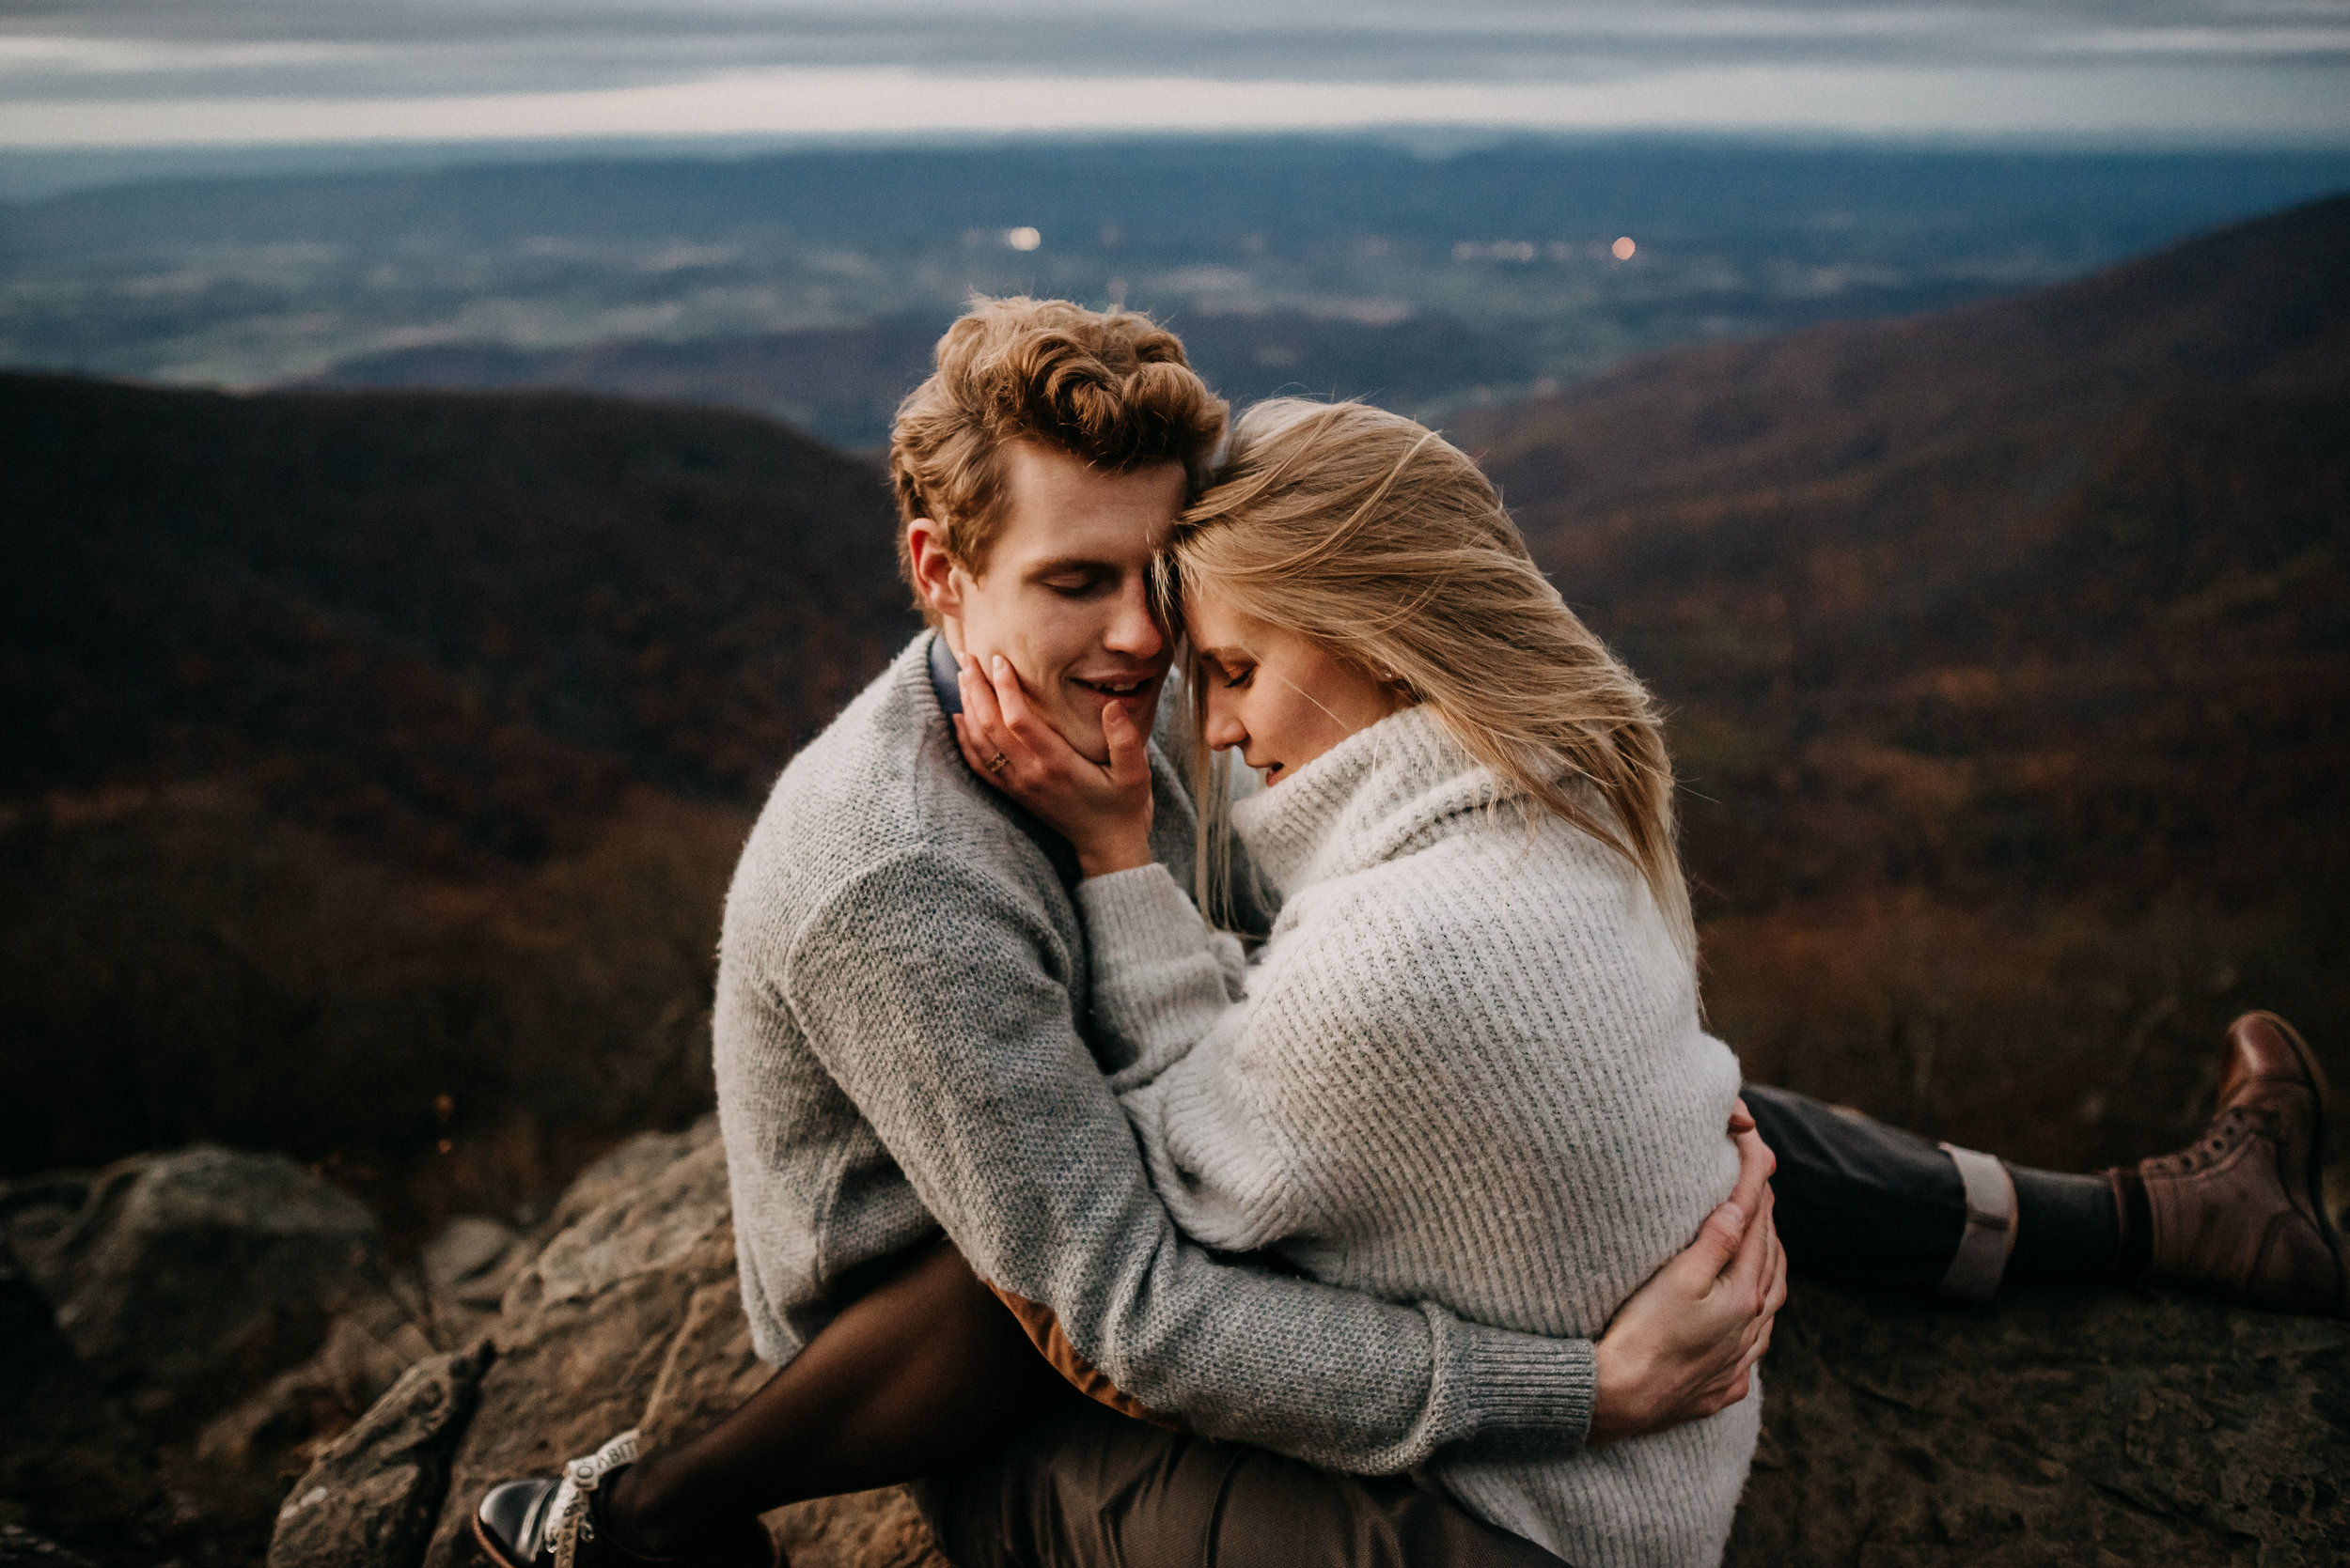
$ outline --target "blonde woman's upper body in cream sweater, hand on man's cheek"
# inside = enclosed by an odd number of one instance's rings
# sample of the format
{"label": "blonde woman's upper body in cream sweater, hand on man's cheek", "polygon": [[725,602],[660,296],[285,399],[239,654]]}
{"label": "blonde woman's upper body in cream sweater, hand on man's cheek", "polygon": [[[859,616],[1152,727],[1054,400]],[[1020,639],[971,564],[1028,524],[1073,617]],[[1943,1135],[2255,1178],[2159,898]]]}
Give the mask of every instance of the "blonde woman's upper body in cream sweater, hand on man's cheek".
{"label": "blonde woman's upper body in cream sweater, hand on man's cheek", "polygon": [[[1720,1204],[1739,1070],[1699,1023],[1657,707],[1436,432],[1243,415],[1161,561],[1203,850],[1149,852],[1144,728],[1067,770],[966,671],[966,753],[1076,847],[1095,1028],[1196,1239],[1389,1300],[1596,1336]],[[1262,786],[1234,800],[1238,753]],[[1231,838],[1246,861],[1215,854]],[[1215,925],[1262,878],[1253,962]],[[1206,911],[1206,918],[1203,913]],[[1570,1563],[1711,1563],[1760,1399],[1434,1479]]]}

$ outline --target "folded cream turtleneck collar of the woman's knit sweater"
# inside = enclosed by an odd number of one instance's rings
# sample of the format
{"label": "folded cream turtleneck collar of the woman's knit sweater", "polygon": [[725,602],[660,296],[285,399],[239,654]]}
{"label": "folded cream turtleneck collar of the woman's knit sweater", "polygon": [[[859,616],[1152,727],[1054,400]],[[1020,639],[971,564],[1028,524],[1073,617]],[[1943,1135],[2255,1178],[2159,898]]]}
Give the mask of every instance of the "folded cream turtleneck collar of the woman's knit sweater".
{"label": "folded cream turtleneck collar of the woman's knit sweater", "polygon": [[1356,730],[1288,779],[1231,807],[1257,871],[1281,892],[1415,847],[1431,826],[1492,798],[1492,772],[1426,704]]}

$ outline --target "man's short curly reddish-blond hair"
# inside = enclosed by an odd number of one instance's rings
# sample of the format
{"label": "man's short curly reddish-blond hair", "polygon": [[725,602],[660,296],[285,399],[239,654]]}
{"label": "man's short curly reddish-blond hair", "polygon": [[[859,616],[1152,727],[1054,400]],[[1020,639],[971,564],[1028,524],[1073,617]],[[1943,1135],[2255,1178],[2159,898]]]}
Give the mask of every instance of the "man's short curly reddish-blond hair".
{"label": "man's short curly reddish-blond hair", "polygon": [[[898,404],[898,521],[940,523],[947,554],[978,573],[1003,530],[1006,441],[1053,446],[1109,474],[1182,462],[1198,495],[1224,413],[1182,340],[1144,315],[982,298],[938,340],[938,371]],[[902,528],[898,568],[912,584]]]}

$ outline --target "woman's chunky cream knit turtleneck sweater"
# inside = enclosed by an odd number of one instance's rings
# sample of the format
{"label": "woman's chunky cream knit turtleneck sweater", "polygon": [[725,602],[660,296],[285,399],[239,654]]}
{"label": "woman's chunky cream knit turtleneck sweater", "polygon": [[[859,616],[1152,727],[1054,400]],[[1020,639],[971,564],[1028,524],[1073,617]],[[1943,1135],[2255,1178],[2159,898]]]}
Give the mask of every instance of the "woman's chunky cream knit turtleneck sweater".
{"label": "woman's chunky cream knit turtleneck sweater", "polygon": [[[1730,1195],[1739,1068],[1640,876],[1490,796],[1415,707],[1241,800],[1283,897],[1246,967],[1163,866],[1083,883],[1093,1016],[1135,1052],[1114,1087],[1196,1239],[1596,1338]],[[1713,1563],[1760,1404],[1426,1479],[1579,1568]]]}

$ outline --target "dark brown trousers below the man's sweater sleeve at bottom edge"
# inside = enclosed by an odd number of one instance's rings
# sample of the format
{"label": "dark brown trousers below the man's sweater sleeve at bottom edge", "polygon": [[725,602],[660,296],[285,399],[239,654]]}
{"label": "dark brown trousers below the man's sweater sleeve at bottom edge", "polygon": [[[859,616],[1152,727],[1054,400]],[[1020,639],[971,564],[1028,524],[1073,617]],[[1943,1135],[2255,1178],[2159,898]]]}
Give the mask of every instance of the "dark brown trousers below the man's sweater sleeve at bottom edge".
{"label": "dark brown trousers below the man's sweater sleeve at bottom edge", "polygon": [[1403,1476],[1344,1476],[1062,1401],[914,1488],[956,1568],[1560,1568]]}

